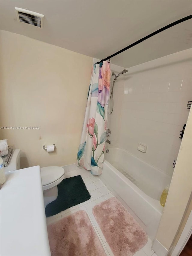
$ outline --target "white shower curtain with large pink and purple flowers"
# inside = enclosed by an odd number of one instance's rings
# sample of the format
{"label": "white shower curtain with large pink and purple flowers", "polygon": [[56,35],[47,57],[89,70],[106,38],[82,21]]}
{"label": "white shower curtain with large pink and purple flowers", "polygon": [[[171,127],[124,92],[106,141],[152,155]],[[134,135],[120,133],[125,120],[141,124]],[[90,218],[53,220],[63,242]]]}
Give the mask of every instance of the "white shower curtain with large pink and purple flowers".
{"label": "white shower curtain with large pink and purple flowers", "polygon": [[107,61],[93,66],[77,153],[76,165],[94,175],[100,175],[103,168],[110,75],[110,63]]}

